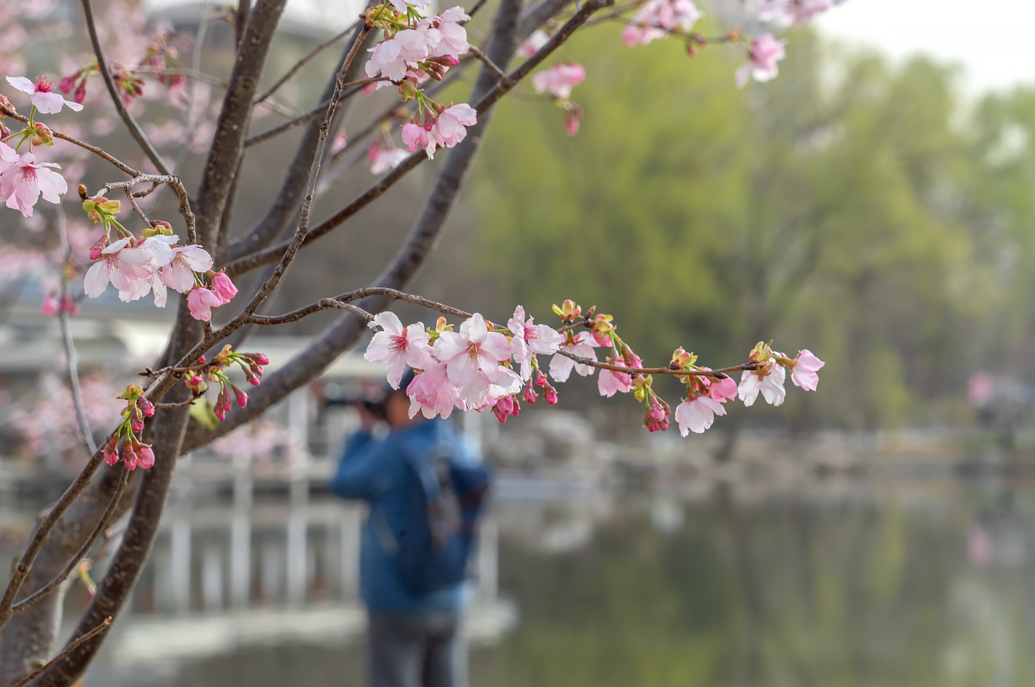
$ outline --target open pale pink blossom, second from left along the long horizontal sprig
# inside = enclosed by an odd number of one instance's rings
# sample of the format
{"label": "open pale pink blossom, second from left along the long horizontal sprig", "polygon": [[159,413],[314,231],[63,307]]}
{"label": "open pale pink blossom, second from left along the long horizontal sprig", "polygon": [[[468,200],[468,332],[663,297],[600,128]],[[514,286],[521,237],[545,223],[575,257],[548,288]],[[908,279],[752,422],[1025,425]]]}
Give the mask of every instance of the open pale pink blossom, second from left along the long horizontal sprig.
{"label": "open pale pink blossom, second from left along the long horizontal sprig", "polygon": [[485,404],[490,385],[501,381],[500,361],[510,359],[507,337],[489,331],[478,312],[465,320],[459,332],[442,332],[434,348],[435,357],[446,363],[449,381],[469,408]]}

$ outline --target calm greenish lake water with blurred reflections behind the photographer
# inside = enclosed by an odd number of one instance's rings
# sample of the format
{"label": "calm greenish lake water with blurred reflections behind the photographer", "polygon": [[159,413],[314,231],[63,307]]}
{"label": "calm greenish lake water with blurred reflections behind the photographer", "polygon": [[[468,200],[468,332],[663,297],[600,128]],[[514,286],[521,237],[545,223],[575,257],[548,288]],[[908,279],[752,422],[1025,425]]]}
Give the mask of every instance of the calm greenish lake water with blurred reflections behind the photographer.
{"label": "calm greenish lake water with blurred reflections behind the photographer", "polygon": [[[472,649],[472,685],[1035,684],[1035,484],[817,480],[774,491],[691,482],[670,490],[678,496],[504,492],[487,561],[498,567],[498,590],[482,594],[511,615],[479,621],[496,625]],[[127,658],[110,649],[87,684],[362,685],[351,583],[344,568],[320,563],[347,552],[335,517],[305,528],[304,550],[317,554],[306,554],[306,591],[294,605],[282,598],[290,590],[274,587],[256,605],[256,577],[273,558],[254,547],[253,601],[238,617],[272,619],[277,631],[212,651],[187,641],[178,655]],[[126,627],[140,623],[129,630],[137,641],[123,647],[175,644],[184,633],[214,632],[213,617],[233,616],[233,593],[224,591],[232,581],[205,563],[225,560],[219,551],[229,556],[232,543],[206,540],[198,528],[186,605],[178,613],[136,599]],[[250,540],[263,540],[254,528]],[[155,565],[167,565],[161,547],[177,535],[162,536]],[[149,574],[145,592],[160,587],[160,575]]]}

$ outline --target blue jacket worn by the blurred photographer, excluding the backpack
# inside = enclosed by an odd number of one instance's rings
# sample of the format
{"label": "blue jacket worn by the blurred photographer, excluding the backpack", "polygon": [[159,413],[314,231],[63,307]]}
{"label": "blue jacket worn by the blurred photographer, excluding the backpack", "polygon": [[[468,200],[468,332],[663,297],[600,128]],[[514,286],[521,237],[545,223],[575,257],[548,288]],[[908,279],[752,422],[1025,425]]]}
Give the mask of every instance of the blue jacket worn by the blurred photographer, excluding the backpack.
{"label": "blue jacket worn by the blurred photographer, excluding the backpack", "polygon": [[[401,525],[404,480],[410,479],[406,450],[420,454],[432,446],[446,443],[452,446],[454,459],[476,464],[467,442],[448,422],[425,420],[398,431],[384,441],[375,440],[368,431],[357,431],[345,446],[345,454],[330,487],[339,497],[361,499],[378,509],[395,529]],[[468,594],[465,585],[414,595],[400,579],[395,563],[385,552],[369,518],[363,524],[359,555],[359,588],[363,602],[371,610],[387,613],[426,613],[462,607]]]}

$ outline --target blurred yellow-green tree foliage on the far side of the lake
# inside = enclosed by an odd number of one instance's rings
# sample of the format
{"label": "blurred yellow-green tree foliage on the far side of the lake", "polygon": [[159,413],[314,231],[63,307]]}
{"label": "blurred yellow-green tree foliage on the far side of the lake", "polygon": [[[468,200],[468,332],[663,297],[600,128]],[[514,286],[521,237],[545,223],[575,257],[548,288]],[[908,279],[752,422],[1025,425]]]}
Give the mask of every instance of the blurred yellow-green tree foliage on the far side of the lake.
{"label": "blurred yellow-green tree foliage on the far side of the lake", "polygon": [[[952,72],[838,58],[807,32],[744,91],[740,58],[582,36],[582,130],[501,106],[477,199],[506,303],[612,312],[657,363],[735,364],[760,338],[827,360],[798,423],[878,427],[962,404],[975,367],[1021,355],[1035,275],[1035,95],[983,101]],[[1008,269],[1007,269],[1008,268]],[[1018,313],[1023,312],[1023,315]]]}

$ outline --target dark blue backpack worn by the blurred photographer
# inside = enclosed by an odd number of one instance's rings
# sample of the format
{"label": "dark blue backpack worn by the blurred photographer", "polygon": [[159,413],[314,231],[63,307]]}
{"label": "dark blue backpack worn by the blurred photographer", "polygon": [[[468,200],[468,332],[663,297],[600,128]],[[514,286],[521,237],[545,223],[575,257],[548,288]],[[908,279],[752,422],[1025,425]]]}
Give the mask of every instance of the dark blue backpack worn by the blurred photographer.
{"label": "dark blue backpack worn by the blurred photographer", "polygon": [[407,508],[401,526],[393,530],[379,510],[371,517],[403,585],[412,594],[427,594],[474,576],[472,552],[492,473],[457,464],[444,443],[422,455],[408,451],[406,457]]}

